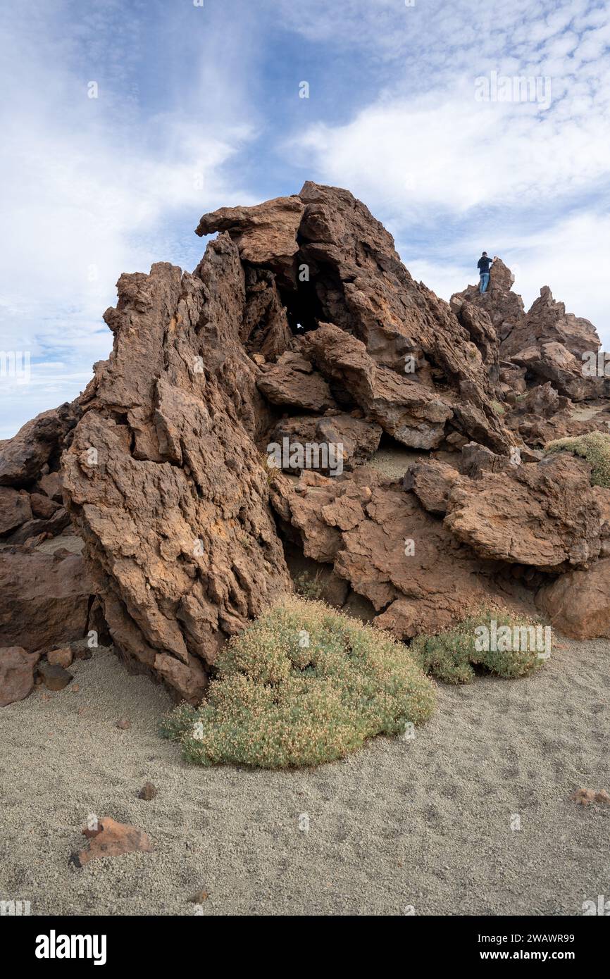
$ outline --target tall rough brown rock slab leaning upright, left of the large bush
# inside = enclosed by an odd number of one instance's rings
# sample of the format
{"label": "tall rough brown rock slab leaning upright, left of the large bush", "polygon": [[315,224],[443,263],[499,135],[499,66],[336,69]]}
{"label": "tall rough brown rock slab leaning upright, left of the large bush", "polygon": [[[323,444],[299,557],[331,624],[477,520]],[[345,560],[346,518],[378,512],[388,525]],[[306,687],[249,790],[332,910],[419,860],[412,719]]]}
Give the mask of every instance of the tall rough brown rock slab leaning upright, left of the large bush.
{"label": "tall rough brown rock slab leaning upright, left of the large bush", "polygon": [[111,634],[184,698],[218,645],[288,588],[253,439],[263,403],[240,341],[237,246],[221,235],[193,275],[123,275],[115,333],[64,456]]}

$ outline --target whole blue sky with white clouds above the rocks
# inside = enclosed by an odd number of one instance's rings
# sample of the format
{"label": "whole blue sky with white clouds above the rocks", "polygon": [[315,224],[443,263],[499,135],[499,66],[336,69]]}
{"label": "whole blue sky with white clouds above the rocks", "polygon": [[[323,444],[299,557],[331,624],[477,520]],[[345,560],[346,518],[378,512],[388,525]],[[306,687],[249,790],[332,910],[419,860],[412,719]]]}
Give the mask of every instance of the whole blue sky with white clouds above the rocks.
{"label": "whole blue sky with white clouds above the rocks", "polygon": [[444,299],[485,250],[610,350],[609,48],[597,0],[3,5],[0,439],[108,356],[121,272],[191,270],[203,213],[305,180]]}

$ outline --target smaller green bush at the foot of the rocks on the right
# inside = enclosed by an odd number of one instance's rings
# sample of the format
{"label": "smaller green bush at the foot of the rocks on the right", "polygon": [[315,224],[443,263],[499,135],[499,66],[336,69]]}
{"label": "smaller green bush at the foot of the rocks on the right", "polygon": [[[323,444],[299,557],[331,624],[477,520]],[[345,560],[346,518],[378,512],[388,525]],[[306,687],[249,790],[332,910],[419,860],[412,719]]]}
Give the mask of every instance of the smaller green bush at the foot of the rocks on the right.
{"label": "smaller green bush at the foot of the rocks on the right", "polygon": [[[502,627],[511,629],[510,648],[477,648],[477,639],[482,635],[477,629],[486,627],[491,632],[492,622],[495,622],[497,630]],[[483,667],[495,676],[512,679],[528,676],[544,662],[539,656],[536,633],[531,632],[537,626],[542,628],[540,621],[525,616],[517,618],[508,612],[482,609],[452,629],[437,635],[418,635],[409,648],[424,673],[436,676],[445,683],[472,683],[475,666]],[[515,632],[515,629],[520,631]],[[528,631],[522,631],[525,629]],[[503,634],[507,635],[506,632]],[[552,633],[547,634],[549,638],[552,636]],[[539,637],[543,640],[544,632],[539,632]],[[496,646],[503,644],[503,641],[496,642]]]}

